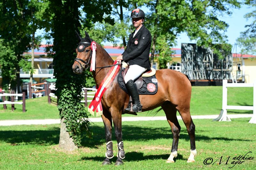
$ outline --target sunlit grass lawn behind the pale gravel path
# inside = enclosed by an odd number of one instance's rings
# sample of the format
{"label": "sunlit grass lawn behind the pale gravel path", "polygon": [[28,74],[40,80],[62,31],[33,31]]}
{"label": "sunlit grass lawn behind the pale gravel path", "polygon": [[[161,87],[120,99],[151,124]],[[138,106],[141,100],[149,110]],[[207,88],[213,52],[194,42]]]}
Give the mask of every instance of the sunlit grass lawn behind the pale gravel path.
{"label": "sunlit grass lawn behind the pale gravel path", "polygon": [[[88,99],[90,100],[90,99]],[[22,113],[22,105],[15,105],[16,110],[11,111],[11,105],[7,110],[0,106],[0,120],[15,119],[58,119],[59,111],[56,107],[56,99],[48,104],[47,97],[26,100],[26,113]],[[228,87],[228,105],[253,105],[252,87]],[[219,115],[222,108],[222,86],[193,86],[191,97],[191,115]],[[87,110],[87,107],[85,108]],[[228,114],[252,113],[250,110],[228,110]],[[153,116],[154,112],[138,113],[138,116]],[[123,116],[133,116],[125,114]],[[165,116],[160,111],[156,116]],[[90,117],[93,117],[90,115]]]}

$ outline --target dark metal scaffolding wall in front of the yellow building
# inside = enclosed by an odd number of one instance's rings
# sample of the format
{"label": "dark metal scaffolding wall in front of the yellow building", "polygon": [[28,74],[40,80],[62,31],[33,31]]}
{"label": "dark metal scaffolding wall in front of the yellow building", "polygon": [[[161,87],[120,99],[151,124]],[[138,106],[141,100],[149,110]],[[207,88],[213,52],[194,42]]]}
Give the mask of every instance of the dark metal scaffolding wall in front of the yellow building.
{"label": "dark metal scaffolding wall in front of the yellow building", "polygon": [[181,43],[181,72],[190,80],[222,80],[232,78],[231,51],[219,59],[210,48],[192,43]]}

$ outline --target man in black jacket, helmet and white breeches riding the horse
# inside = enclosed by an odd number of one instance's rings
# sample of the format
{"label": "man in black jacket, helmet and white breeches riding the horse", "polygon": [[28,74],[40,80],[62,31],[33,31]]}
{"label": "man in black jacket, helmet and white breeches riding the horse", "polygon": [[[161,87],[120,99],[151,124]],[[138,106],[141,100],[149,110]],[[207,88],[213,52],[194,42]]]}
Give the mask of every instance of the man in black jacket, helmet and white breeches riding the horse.
{"label": "man in black jacket, helmet and white breeches riding the horse", "polygon": [[[151,67],[149,62],[151,34],[143,25],[145,13],[141,9],[134,9],[131,13],[131,18],[135,30],[129,36],[124,53],[116,59],[118,62],[124,60],[129,65],[129,69],[124,77],[125,87],[132,96],[132,111],[141,112],[142,106],[140,104],[138,89],[133,81]],[[129,105],[124,110],[131,111],[131,106]]]}

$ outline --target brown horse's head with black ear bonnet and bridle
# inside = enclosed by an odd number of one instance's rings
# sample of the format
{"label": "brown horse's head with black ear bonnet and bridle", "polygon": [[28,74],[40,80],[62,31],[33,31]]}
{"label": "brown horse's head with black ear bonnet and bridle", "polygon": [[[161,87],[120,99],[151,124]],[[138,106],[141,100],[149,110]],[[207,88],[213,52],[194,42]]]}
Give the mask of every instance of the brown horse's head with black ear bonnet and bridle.
{"label": "brown horse's head with black ear bonnet and bridle", "polygon": [[72,66],[74,73],[81,74],[83,70],[89,67],[91,58],[92,58],[92,50],[91,43],[92,39],[89,37],[88,33],[85,31],[85,38],[81,38],[81,36],[76,32],[76,37],[79,41],[78,47],[76,48],[76,59]]}

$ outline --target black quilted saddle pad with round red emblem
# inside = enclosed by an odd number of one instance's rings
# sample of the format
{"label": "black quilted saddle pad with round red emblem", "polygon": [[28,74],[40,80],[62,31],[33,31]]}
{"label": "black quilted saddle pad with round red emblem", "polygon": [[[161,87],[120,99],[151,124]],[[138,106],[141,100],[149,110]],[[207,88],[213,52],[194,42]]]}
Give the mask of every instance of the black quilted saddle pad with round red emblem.
{"label": "black quilted saddle pad with round red emblem", "polygon": [[[126,90],[126,87],[124,85],[122,71],[124,71],[124,70],[119,71],[119,74],[117,76],[117,82],[118,82],[118,85],[121,87],[121,89],[124,90],[124,92],[128,93]],[[138,90],[139,94],[156,94],[156,92],[157,92],[156,75],[151,76],[151,77],[142,77],[142,78],[143,78],[143,85]]]}

